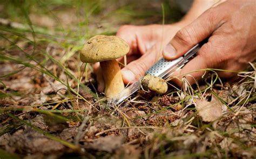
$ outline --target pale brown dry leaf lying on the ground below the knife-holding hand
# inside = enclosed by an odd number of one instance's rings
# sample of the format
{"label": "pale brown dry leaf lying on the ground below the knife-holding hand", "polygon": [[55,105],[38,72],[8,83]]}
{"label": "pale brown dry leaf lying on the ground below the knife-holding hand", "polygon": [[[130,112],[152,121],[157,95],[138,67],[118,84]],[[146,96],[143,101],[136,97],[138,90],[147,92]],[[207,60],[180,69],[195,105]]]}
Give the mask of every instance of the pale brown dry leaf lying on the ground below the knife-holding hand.
{"label": "pale brown dry leaf lying on the ground below the knife-holding hand", "polygon": [[198,114],[203,118],[203,121],[211,122],[219,119],[222,115],[222,104],[214,96],[211,102],[206,100],[195,100]]}

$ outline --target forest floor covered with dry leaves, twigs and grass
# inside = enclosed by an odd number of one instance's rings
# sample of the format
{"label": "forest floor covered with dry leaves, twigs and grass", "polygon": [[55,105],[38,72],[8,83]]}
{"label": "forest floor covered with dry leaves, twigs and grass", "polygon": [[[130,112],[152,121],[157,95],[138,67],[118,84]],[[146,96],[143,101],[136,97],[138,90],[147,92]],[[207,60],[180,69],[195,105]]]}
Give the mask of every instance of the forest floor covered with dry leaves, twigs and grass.
{"label": "forest floor covered with dry leaves, twigs and grass", "polygon": [[[162,24],[171,1],[0,3],[0,158],[254,158],[255,62],[231,81],[106,104],[79,50],[122,24]],[[222,70],[225,71],[225,70]]]}

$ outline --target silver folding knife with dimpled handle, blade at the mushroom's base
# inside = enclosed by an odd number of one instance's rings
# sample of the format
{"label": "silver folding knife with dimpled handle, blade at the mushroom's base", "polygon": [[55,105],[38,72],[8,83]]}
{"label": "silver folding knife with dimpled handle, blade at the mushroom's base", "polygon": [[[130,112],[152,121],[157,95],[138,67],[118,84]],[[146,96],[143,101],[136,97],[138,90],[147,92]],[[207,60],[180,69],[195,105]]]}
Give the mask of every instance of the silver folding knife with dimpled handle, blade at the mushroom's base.
{"label": "silver folding knife with dimpled handle, blade at the mushroom's base", "polygon": [[[191,59],[191,57],[193,57],[198,52],[198,50],[203,44],[204,43],[201,42],[195,45],[178,59],[165,60],[164,57],[161,58],[156,64],[154,64],[149,70],[146,71],[145,75],[153,75],[163,79],[167,79],[174,71],[176,71],[179,68],[182,68]],[[142,79],[143,77],[139,78],[137,82],[134,82],[133,84],[125,88],[122,92],[119,93],[118,96],[110,99],[108,103],[117,105],[123,102],[126,98],[133,95],[133,93],[139,90],[140,81]]]}

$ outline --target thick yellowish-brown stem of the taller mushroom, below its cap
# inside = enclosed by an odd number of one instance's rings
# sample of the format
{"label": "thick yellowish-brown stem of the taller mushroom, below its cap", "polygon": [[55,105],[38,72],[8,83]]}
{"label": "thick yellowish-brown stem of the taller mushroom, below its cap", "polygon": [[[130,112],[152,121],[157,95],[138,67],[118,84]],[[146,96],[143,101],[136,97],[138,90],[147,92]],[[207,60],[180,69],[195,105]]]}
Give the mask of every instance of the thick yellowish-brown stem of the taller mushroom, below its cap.
{"label": "thick yellowish-brown stem of the taller mushroom, below its cap", "polygon": [[116,60],[100,62],[105,80],[105,94],[108,98],[116,97],[123,89],[124,82],[119,64]]}

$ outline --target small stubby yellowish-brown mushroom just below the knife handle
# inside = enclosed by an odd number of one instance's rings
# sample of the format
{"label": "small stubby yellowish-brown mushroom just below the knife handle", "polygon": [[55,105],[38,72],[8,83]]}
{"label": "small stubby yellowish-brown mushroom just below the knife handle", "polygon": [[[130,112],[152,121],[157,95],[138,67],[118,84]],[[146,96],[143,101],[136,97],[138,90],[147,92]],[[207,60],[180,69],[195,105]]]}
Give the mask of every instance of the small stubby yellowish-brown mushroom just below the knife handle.
{"label": "small stubby yellowish-brown mushroom just below the knife handle", "polygon": [[158,94],[164,94],[168,90],[168,85],[164,79],[152,75],[146,75],[142,79],[142,88],[144,91],[153,91]]}

